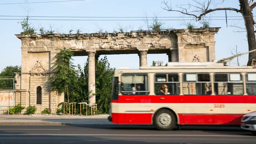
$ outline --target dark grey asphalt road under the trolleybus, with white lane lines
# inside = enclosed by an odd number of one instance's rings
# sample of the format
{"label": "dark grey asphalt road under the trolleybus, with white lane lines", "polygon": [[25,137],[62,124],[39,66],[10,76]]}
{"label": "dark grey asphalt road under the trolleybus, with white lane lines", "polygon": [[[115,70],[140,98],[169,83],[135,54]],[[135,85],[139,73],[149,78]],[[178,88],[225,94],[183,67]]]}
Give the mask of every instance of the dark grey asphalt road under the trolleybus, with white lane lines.
{"label": "dark grey asphalt road under the trolleybus, with white lane lines", "polygon": [[0,144],[255,144],[256,135],[238,127],[182,126],[158,131],[148,125],[0,126]]}

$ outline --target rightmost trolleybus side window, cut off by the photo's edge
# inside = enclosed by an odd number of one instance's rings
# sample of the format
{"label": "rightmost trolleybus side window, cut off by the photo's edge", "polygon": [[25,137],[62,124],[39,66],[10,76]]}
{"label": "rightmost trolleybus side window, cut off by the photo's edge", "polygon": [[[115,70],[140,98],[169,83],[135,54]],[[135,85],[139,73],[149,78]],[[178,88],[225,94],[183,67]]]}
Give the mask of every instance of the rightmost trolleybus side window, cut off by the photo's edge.
{"label": "rightmost trolleybus side window, cut off by the photo's edge", "polygon": [[248,95],[256,95],[256,73],[246,74],[246,91]]}

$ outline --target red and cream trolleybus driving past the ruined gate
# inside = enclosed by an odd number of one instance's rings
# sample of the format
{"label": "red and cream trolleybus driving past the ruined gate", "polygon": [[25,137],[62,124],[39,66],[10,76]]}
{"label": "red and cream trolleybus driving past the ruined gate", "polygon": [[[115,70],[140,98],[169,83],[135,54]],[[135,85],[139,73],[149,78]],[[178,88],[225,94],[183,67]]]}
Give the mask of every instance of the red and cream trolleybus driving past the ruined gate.
{"label": "red and cream trolleybus driving past the ruined gate", "polygon": [[171,62],[114,72],[113,123],[154,124],[160,130],[176,124],[239,125],[242,115],[252,111],[256,68],[251,66]]}

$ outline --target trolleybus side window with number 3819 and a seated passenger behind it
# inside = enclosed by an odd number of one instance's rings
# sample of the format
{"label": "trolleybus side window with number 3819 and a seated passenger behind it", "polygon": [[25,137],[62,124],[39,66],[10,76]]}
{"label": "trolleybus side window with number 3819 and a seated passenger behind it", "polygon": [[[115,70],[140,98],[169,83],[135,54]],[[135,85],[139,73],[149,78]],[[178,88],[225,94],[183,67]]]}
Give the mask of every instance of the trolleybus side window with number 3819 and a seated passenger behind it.
{"label": "trolleybus side window with number 3819 and a seated passenger behind it", "polygon": [[179,95],[180,82],[178,74],[155,74],[156,95]]}

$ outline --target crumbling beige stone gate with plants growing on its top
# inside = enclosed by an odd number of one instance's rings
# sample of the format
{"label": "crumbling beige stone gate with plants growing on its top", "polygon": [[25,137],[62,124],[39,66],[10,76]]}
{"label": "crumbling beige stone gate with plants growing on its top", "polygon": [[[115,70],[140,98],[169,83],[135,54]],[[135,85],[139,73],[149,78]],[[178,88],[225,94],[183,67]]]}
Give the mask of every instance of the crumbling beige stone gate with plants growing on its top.
{"label": "crumbling beige stone gate with plants growing on its top", "polygon": [[51,92],[48,78],[58,50],[71,49],[75,56],[88,56],[89,101],[95,103],[95,61],[100,55],[138,54],[147,66],[147,54],[167,54],[169,62],[213,61],[214,34],[219,28],[171,29],[127,33],[16,34],[21,39],[21,73],[16,75],[15,104],[36,105],[38,112],[55,110],[63,94]]}

